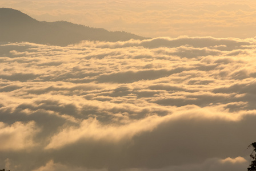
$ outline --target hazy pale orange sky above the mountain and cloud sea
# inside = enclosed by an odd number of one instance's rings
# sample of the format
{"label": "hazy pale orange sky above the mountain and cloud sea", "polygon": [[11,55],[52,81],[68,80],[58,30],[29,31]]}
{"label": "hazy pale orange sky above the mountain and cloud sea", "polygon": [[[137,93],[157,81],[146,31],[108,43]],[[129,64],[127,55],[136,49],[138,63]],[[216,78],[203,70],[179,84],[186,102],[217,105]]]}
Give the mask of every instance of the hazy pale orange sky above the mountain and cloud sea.
{"label": "hazy pale orange sky above the mountain and cloud sea", "polygon": [[251,0],[1,0],[0,6],[21,10],[39,21],[63,20],[151,38],[179,35],[248,38],[256,32],[256,2]]}

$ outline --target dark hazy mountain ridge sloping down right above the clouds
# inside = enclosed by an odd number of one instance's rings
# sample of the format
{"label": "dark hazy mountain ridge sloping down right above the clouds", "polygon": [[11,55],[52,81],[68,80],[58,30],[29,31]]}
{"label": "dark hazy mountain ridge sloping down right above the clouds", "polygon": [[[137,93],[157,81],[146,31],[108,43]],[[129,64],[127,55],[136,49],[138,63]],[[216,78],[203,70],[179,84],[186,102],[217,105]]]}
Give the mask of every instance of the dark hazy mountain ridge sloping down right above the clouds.
{"label": "dark hazy mountain ridge sloping down right above the clouds", "polygon": [[0,8],[0,42],[33,42],[67,46],[81,40],[108,42],[146,39],[124,31],[107,31],[70,22],[39,22],[21,11]]}

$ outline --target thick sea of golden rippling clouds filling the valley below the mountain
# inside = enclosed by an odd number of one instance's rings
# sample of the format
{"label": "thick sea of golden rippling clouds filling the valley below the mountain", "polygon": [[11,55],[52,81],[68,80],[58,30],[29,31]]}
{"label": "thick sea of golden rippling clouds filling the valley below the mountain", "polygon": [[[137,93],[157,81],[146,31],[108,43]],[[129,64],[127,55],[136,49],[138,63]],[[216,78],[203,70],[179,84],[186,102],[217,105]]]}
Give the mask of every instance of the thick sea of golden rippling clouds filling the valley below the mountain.
{"label": "thick sea of golden rippling clouds filling the valley below the mountain", "polygon": [[2,43],[0,167],[246,168],[255,47],[253,38],[187,36]]}

